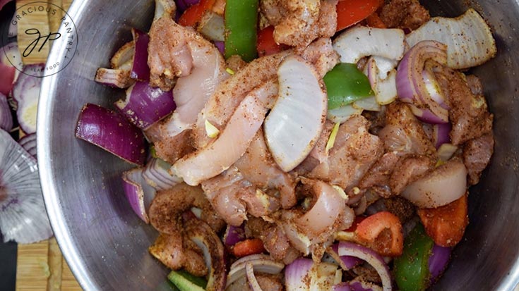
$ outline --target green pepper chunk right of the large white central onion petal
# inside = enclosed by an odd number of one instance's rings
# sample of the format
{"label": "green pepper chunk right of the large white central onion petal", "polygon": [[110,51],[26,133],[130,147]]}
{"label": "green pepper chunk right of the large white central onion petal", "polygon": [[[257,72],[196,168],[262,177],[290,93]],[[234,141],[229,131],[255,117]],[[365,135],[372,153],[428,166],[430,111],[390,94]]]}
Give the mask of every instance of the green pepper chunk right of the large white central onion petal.
{"label": "green pepper chunk right of the large white central onion petal", "polygon": [[328,109],[336,109],[374,95],[369,80],[354,63],[339,63],[323,78]]}

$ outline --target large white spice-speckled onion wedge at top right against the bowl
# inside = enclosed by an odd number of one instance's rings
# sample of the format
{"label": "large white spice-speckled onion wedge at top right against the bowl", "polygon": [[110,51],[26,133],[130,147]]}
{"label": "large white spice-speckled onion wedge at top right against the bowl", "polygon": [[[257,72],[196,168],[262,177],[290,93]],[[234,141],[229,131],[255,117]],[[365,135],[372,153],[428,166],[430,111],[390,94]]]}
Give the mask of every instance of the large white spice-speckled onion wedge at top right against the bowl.
{"label": "large white spice-speckled onion wedge at top right against the bowl", "polygon": [[470,8],[458,18],[431,18],[406,37],[413,47],[424,40],[447,45],[447,65],[454,69],[471,68],[496,55],[496,41],[487,22]]}

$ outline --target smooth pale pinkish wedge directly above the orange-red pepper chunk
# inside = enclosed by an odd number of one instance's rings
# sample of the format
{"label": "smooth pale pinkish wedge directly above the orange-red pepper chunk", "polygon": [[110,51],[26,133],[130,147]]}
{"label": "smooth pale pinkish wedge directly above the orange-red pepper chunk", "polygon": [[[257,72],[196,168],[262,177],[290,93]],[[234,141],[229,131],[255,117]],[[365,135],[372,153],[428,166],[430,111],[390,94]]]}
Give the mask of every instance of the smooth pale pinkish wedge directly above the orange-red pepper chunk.
{"label": "smooth pale pinkish wedge directly above the orange-red pepper chunk", "polygon": [[446,161],[408,185],[400,196],[420,208],[447,205],[467,191],[467,168],[461,161]]}

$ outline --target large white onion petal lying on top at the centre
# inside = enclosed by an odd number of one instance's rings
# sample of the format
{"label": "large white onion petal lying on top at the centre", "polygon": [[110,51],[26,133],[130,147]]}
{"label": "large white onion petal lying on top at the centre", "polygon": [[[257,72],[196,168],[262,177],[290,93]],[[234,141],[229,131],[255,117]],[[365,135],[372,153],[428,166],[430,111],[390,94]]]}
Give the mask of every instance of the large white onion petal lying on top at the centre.
{"label": "large white onion petal lying on top at the centre", "polygon": [[285,172],[308,156],[323,130],[328,97],[319,79],[299,56],[287,56],[278,69],[278,99],[264,129],[268,149]]}

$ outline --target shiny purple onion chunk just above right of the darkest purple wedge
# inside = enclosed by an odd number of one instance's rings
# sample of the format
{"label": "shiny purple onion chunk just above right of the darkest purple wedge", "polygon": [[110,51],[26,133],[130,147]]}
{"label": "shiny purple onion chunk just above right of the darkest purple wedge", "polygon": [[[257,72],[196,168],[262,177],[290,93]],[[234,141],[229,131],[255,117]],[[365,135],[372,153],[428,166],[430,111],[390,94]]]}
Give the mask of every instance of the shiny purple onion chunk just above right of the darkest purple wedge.
{"label": "shiny purple onion chunk just above right of the darkest purple wedge", "polygon": [[126,90],[126,100],[115,102],[115,106],[131,123],[142,130],[161,120],[177,107],[172,91],[164,92],[153,88],[149,82],[137,81]]}

